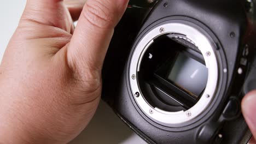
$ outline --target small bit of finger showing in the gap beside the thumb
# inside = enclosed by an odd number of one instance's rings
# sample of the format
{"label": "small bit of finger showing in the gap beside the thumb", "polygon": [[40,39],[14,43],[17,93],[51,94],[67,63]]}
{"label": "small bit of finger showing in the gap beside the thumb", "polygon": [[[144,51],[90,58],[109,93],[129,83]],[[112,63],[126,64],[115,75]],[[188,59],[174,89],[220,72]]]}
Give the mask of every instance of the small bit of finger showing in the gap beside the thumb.
{"label": "small bit of finger showing in the gap beside the thumb", "polygon": [[71,14],[73,21],[77,21],[84,7],[86,0],[64,0],[66,7]]}

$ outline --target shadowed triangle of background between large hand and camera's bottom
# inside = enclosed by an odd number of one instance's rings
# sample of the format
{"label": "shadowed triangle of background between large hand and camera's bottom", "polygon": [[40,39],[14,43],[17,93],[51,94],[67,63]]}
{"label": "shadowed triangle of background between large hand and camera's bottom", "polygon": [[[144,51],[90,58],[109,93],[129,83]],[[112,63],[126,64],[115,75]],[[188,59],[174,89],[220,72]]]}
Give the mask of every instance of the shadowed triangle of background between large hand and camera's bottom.
{"label": "shadowed triangle of background between large hand and camera's bottom", "polygon": [[102,101],[95,117],[88,127],[69,144],[77,143],[146,144],[146,142],[134,134]]}

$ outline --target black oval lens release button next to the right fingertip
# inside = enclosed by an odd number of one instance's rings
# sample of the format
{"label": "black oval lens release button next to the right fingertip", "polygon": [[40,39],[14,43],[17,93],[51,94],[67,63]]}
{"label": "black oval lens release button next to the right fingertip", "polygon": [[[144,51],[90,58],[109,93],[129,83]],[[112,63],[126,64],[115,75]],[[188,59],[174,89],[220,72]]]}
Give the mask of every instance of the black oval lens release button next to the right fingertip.
{"label": "black oval lens release button next to the right fingertip", "polygon": [[223,116],[226,119],[232,119],[235,118],[239,112],[240,103],[237,99],[231,98],[223,111]]}

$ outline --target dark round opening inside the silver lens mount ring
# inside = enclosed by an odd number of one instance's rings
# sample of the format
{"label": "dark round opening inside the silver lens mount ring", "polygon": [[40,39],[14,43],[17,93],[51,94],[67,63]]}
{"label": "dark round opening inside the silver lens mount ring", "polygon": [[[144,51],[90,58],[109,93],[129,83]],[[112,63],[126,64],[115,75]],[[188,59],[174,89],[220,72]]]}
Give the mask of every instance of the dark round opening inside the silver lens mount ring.
{"label": "dark round opening inside the silver lens mount ring", "polygon": [[197,103],[207,84],[208,69],[200,50],[185,35],[164,34],[145,52],[138,76],[150,105],[175,112]]}

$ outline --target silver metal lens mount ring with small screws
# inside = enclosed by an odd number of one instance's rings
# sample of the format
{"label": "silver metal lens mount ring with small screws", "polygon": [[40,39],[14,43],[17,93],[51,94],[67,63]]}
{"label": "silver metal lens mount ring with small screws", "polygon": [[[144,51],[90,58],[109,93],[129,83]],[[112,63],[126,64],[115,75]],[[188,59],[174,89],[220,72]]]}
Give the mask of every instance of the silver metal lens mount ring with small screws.
{"label": "silver metal lens mount ring with small screws", "polygon": [[[201,51],[203,58],[205,59],[206,67],[208,68],[208,79],[205,91],[203,92],[200,100],[187,111],[168,112],[160,110],[157,107],[152,107],[143,97],[143,93],[138,85],[138,79],[136,79],[144,53],[147,51],[149,46],[154,43],[155,38],[168,33],[183,34],[186,35],[188,39],[193,41],[193,43],[195,43],[195,45]],[[179,22],[161,25],[144,35],[135,47],[129,68],[131,91],[137,105],[143,111],[143,113],[146,114],[150,119],[153,119],[160,124],[180,124],[196,118],[203,111],[205,111],[207,106],[210,105],[212,99],[214,98],[218,82],[218,63],[213,47],[214,45],[212,41],[198,29]]]}

